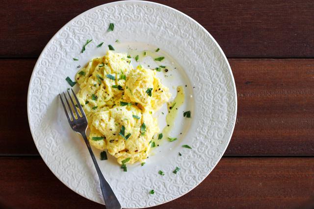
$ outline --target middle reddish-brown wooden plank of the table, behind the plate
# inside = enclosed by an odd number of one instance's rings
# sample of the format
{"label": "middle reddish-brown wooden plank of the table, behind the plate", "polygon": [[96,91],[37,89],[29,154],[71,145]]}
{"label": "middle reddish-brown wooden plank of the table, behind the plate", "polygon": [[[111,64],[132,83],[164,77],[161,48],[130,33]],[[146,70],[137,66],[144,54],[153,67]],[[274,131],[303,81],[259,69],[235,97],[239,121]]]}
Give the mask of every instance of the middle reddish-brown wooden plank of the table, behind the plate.
{"label": "middle reddish-brown wooden plank of the table, behind the plate", "polygon": [[[314,59],[229,59],[238,94],[226,156],[314,155]],[[34,59],[2,59],[0,155],[38,154],[27,122]]]}

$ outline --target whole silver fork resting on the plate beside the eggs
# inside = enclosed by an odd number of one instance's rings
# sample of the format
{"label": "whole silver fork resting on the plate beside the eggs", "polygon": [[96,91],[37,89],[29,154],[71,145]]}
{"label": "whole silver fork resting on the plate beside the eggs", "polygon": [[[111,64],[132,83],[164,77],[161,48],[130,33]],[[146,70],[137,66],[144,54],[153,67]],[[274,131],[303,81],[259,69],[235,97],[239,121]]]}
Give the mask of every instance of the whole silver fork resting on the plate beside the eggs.
{"label": "whole silver fork resting on the plate beside the eggs", "polygon": [[[100,171],[100,168],[99,168],[98,163],[97,163],[97,161],[95,159],[94,153],[93,153],[93,151],[92,151],[92,149],[90,147],[89,141],[88,141],[88,139],[86,137],[87,118],[86,118],[85,113],[84,113],[84,111],[82,109],[82,106],[79,104],[78,98],[75,95],[75,93],[73,92],[73,90],[72,90],[72,93],[73,93],[73,97],[76,100],[76,104],[73,102],[72,96],[71,96],[71,94],[69,93],[68,90],[67,90],[67,92],[68,92],[68,95],[69,95],[68,97],[71,100],[72,107],[71,107],[71,105],[69,103],[69,100],[67,99],[66,94],[63,93],[63,95],[64,95],[65,101],[66,101],[66,103],[68,105],[68,109],[69,109],[69,112],[71,114],[71,117],[69,116],[68,110],[66,109],[66,107],[64,105],[64,102],[63,102],[61,94],[59,94],[61,102],[62,102],[62,106],[63,106],[64,111],[65,111],[65,115],[68,118],[68,121],[69,121],[69,124],[70,124],[71,128],[75,132],[77,132],[80,135],[82,135],[82,137],[83,137],[83,139],[84,139],[84,141],[86,143],[86,146],[88,148],[89,154],[92,157],[92,160],[94,162],[94,165],[95,165],[95,168],[96,168],[99,180],[100,180],[100,188],[101,188],[102,193],[103,193],[103,197],[104,197],[104,200],[105,200],[106,208],[107,209],[121,209],[121,205],[120,205],[117,197],[113,193],[110,185],[105,180],[105,177],[103,176],[102,172]],[[77,108],[75,108],[76,105],[77,105],[77,107],[78,107],[78,109],[79,109],[79,111],[81,113],[80,115],[78,113]],[[75,113],[76,113],[78,118],[75,117],[73,109],[75,110]]]}

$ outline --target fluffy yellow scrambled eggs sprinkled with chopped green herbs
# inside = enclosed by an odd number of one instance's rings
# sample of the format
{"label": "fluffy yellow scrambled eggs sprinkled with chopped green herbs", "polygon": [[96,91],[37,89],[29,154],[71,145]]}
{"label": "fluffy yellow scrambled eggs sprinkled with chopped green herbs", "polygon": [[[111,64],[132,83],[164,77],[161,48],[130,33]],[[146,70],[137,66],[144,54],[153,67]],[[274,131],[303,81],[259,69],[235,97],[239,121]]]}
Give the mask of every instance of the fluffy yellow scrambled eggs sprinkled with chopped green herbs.
{"label": "fluffy yellow scrambled eggs sprinkled with chopped green herbs", "polygon": [[133,69],[126,54],[108,51],[78,71],[79,103],[87,116],[91,145],[124,164],[143,162],[159,132],[153,114],[171,94],[156,70]]}

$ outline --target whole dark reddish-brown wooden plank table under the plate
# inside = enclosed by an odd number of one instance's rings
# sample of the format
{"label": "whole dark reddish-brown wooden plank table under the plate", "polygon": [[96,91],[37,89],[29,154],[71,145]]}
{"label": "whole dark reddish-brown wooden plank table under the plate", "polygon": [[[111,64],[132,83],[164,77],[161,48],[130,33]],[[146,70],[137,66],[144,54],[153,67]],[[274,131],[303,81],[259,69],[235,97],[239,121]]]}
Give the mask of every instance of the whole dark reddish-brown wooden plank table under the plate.
{"label": "whole dark reddish-brown wooden plank table under the plate", "polygon": [[[42,161],[26,114],[29,78],[53,34],[107,0],[1,3],[0,208],[104,208],[64,186]],[[314,199],[314,1],[157,0],[201,23],[235,76],[238,113],[216,168],[155,209],[278,209]]]}

